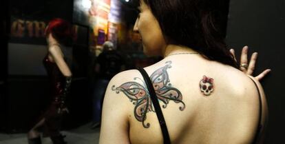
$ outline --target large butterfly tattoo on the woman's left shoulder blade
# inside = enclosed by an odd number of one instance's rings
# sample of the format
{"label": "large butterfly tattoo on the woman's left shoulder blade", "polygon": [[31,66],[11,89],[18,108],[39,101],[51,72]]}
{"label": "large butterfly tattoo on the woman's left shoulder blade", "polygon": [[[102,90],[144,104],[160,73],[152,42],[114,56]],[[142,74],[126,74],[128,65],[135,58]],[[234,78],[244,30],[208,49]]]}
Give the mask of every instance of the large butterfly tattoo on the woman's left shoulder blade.
{"label": "large butterfly tattoo on the woman's left shoulder blade", "polygon": [[[150,76],[156,96],[158,100],[163,103],[163,108],[167,107],[169,101],[173,101],[174,103],[182,104],[182,106],[179,107],[179,110],[182,111],[185,108],[185,104],[182,101],[182,94],[178,89],[171,87],[171,83],[169,83],[170,80],[167,69],[171,68],[171,61],[167,61],[165,64],[164,67],[159,68]],[[142,84],[136,81],[140,81]],[[142,122],[143,127],[148,128],[150,124],[145,123],[147,112],[155,112],[155,110],[145,81],[135,77],[134,81],[123,83],[117,88],[113,85],[112,90],[116,91],[117,94],[123,92],[130,99],[135,105],[134,116],[138,121]]]}

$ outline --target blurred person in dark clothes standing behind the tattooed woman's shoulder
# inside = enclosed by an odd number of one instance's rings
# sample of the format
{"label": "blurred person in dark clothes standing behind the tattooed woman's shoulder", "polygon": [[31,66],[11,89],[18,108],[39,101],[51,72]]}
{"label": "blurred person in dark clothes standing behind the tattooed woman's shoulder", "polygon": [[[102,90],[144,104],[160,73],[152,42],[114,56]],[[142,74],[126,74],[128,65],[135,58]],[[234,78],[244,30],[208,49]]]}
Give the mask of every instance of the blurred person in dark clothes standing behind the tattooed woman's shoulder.
{"label": "blurred person in dark clothes standing behind the tattooed woman's shoulder", "polygon": [[101,123],[103,99],[109,81],[123,70],[125,70],[123,56],[114,49],[114,44],[111,41],[105,41],[103,52],[99,54],[95,65],[96,80],[93,94],[92,128],[98,127]]}

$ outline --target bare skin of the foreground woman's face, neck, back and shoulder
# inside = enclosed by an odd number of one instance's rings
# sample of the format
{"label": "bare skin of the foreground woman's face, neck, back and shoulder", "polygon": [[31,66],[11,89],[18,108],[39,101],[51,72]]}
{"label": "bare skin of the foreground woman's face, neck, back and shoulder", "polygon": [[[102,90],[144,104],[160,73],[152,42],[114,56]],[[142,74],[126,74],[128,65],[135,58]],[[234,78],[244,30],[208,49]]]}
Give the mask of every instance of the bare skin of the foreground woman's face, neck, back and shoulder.
{"label": "bare skin of the foreground woman's face, neck, back and shoulder", "polygon": [[[251,77],[252,81],[244,71],[193,54],[196,51],[191,48],[167,44],[158,21],[143,1],[139,9],[140,16],[134,30],[142,37],[145,54],[165,56],[165,59],[145,70],[152,77],[171,61],[171,67],[165,71],[168,74],[167,83],[182,94],[185,105],[180,110],[178,107],[182,102],[169,101],[165,108],[162,106],[165,104],[160,102],[171,143],[251,143],[257,130],[260,107],[253,81],[262,96],[262,125],[266,125],[267,121],[266,98],[257,79]],[[199,88],[204,75],[213,79],[214,91],[209,96],[204,96]],[[143,86],[144,82],[140,79],[143,78],[138,70],[128,70],[120,72],[109,82],[103,103],[100,144],[163,143],[156,113],[149,110],[145,119],[149,125],[142,125],[142,121],[135,116],[138,104],[130,101],[128,93],[120,89],[124,83]],[[126,90],[134,92],[134,89]]]}

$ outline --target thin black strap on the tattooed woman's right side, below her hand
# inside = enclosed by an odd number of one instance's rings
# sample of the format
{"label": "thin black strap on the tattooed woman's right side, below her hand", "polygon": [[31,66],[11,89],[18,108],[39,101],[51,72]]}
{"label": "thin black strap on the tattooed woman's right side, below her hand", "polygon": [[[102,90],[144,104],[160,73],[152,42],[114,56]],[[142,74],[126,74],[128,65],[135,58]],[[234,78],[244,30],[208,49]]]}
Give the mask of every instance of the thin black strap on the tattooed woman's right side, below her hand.
{"label": "thin black strap on the tattooed woman's right side, below her hand", "polygon": [[[251,78],[251,77],[249,77]],[[261,132],[262,132],[262,97],[261,97],[261,94],[260,94],[260,89],[258,88],[257,84],[255,83],[255,81],[251,78],[251,81],[253,81],[253,83],[255,84],[256,88],[257,88],[257,92],[258,92],[258,96],[260,98],[260,119],[258,121],[258,127],[257,127],[257,130],[256,130],[256,133],[255,133],[255,138],[254,138],[254,141],[253,141],[253,144],[257,144],[259,143],[259,140],[260,140],[260,136],[261,136]]]}

